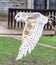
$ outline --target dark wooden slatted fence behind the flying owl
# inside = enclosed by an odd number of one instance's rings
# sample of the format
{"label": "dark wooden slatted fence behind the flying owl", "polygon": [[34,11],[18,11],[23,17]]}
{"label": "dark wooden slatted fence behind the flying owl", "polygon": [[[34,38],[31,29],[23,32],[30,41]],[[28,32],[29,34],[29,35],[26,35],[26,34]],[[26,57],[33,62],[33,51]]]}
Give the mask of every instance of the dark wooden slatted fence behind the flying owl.
{"label": "dark wooden slatted fence behind the flying owl", "polygon": [[50,16],[50,18],[53,18],[53,25],[50,25],[49,23],[47,23],[44,26],[45,30],[52,30],[53,26],[55,27],[56,25],[56,18],[54,16],[56,16],[56,10],[43,10],[43,9],[11,9],[9,8],[8,10],[8,28],[23,28],[25,23],[22,22],[16,22],[14,17],[18,12],[40,12],[45,16]]}

